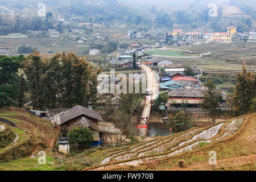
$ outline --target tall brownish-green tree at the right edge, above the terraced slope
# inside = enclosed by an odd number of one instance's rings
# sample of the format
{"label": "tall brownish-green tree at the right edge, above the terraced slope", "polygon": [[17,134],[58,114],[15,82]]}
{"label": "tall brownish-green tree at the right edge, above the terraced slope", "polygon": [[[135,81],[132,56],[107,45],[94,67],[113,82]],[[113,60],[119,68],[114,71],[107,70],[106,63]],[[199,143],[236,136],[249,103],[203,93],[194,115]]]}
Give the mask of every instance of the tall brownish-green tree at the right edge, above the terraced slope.
{"label": "tall brownish-green tree at the right edge, above the terraced slope", "polygon": [[247,72],[245,64],[242,69],[243,72],[237,74],[237,85],[232,99],[236,115],[249,113],[250,102],[256,96],[256,75]]}

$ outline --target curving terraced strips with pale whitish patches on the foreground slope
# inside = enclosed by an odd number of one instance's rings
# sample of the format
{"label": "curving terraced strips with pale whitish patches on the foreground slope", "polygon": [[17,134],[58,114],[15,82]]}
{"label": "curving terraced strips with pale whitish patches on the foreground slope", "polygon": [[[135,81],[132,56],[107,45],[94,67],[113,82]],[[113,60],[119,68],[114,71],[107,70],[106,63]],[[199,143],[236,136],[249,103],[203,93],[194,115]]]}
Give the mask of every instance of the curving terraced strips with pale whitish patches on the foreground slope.
{"label": "curving terraced strips with pale whitish patches on the foreground slope", "polygon": [[100,165],[94,169],[138,166],[152,160],[193,151],[232,137],[248,119],[249,116],[242,116],[231,121],[216,123],[213,126],[197,127],[183,133],[154,139],[122,152],[115,152],[102,160]]}

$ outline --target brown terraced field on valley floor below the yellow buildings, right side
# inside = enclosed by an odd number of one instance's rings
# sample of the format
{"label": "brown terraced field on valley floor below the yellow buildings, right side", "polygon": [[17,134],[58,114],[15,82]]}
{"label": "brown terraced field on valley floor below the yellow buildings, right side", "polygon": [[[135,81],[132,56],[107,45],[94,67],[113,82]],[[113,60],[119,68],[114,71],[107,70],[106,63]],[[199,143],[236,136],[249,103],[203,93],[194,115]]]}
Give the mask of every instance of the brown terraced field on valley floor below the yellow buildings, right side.
{"label": "brown terraced field on valley floor below the yellow buildings, right side", "polygon": [[195,46],[168,46],[166,48],[189,50],[193,53],[207,53],[211,54],[196,58],[170,58],[174,64],[182,63],[196,67],[212,70],[216,72],[235,74],[234,71],[242,70],[242,63],[246,64],[247,70],[251,72],[256,71],[256,50],[253,47],[236,46],[232,44],[200,44]]}

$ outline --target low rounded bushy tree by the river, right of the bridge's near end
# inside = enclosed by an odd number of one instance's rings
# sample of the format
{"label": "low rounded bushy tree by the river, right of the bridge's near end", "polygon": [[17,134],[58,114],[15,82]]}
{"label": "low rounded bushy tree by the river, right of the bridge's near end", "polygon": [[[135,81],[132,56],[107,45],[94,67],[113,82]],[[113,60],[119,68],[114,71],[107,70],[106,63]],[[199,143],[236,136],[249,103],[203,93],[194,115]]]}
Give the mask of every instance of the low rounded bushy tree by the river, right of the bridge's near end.
{"label": "low rounded bushy tree by the river, right of the bridge's near end", "polygon": [[170,115],[167,126],[172,128],[174,133],[182,132],[193,127],[191,118],[185,115],[184,111],[180,111],[173,117]]}

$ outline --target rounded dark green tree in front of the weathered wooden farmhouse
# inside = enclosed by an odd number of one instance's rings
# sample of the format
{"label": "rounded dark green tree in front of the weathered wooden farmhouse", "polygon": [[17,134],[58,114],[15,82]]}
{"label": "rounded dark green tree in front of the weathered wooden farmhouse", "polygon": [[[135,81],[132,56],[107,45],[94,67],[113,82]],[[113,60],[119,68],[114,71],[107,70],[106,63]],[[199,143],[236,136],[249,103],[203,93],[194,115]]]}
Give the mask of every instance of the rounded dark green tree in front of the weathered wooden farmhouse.
{"label": "rounded dark green tree in front of the weathered wooden farmhouse", "polygon": [[89,147],[90,142],[93,140],[92,133],[88,127],[78,126],[68,132],[68,139],[74,144],[85,144]]}

